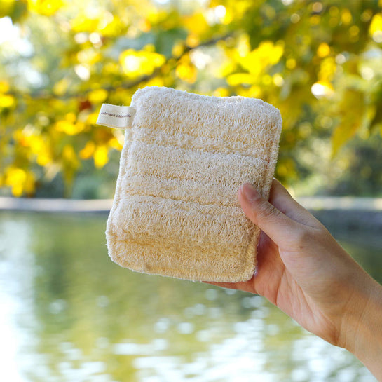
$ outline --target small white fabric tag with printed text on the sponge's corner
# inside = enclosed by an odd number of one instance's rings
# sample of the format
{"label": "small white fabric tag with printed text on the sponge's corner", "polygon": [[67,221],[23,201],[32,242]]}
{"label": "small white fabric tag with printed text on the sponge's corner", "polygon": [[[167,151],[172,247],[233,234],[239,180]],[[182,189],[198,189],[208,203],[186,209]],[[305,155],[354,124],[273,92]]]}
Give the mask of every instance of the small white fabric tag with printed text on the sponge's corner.
{"label": "small white fabric tag with printed text on the sponge's corner", "polygon": [[134,107],[102,104],[97,125],[118,129],[131,128],[134,114]]}

